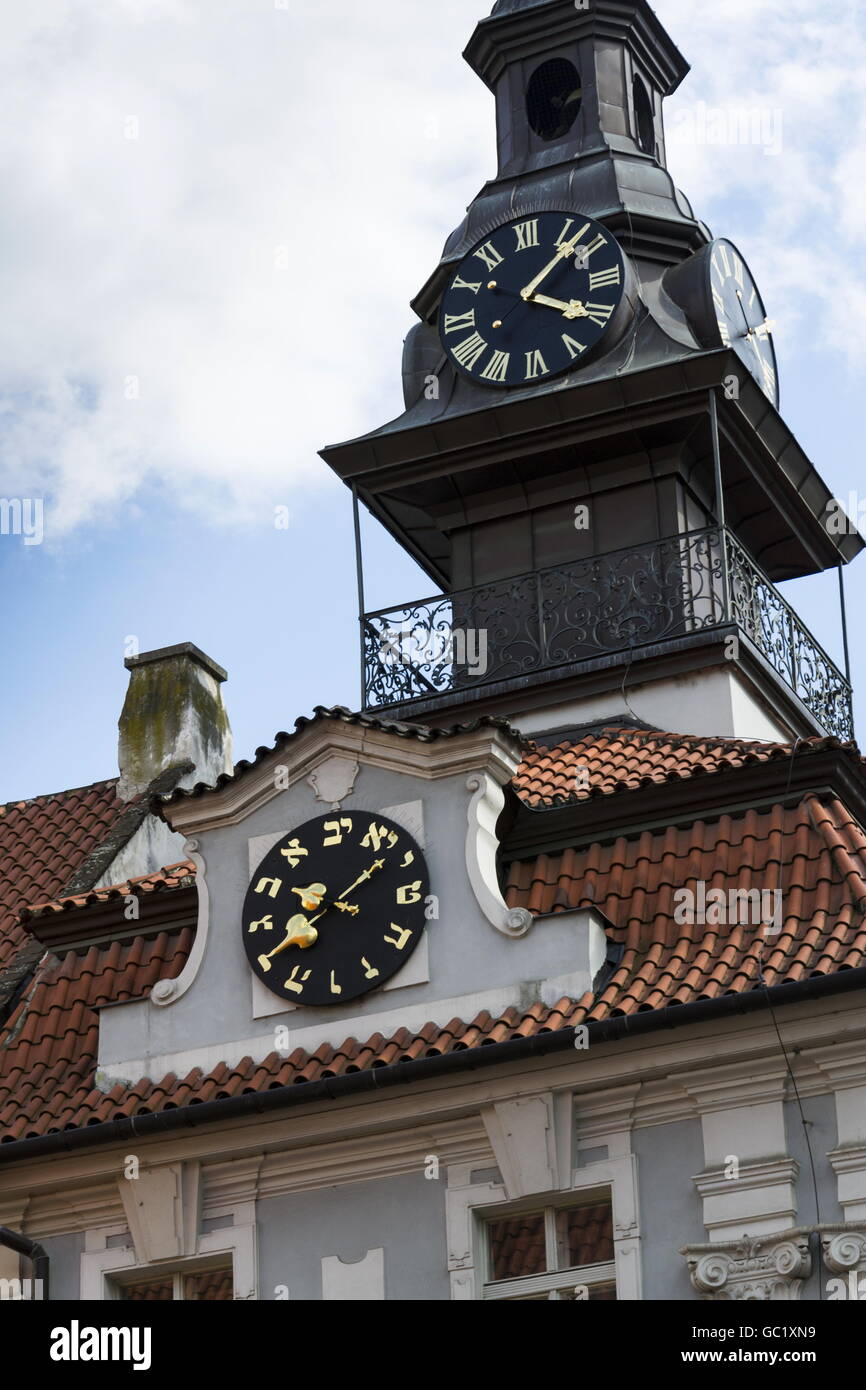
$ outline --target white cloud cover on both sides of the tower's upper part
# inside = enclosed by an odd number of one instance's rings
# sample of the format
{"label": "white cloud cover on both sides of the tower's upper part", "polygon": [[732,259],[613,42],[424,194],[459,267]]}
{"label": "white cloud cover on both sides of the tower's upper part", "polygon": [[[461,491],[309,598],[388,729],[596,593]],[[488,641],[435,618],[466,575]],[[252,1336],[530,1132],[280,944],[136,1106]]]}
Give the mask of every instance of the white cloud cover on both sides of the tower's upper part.
{"label": "white cloud cover on both sides of the tower's upper part", "polygon": [[[409,300],[495,171],[492,101],[460,60],[487,8],[7,7],[0,493],[54,496],[54,532],[145,484],[236,520],[317,486],[318,446],[396,414]],[[746,243],[773,316],[809,299],[862,366],[826,292],[866,297],[855,7],[657,11],[694,63],[670,103],[677,182],[710,222],[748,200],[748,236],[714,231]],[[698,101],[778,108],[781,154],[677,139]]]}

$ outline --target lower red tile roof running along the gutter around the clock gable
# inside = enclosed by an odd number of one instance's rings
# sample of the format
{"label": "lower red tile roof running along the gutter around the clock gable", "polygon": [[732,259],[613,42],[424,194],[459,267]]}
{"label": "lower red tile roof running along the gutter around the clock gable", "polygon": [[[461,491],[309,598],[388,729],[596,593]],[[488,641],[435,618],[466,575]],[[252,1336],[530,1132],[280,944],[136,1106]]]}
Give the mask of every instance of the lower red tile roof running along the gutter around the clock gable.
{"label": "lower red tile roof running along the gutter around the clock gable", "polygon": [[[175,866],[177,867],[177,866]],[[182,869],[185,866],[181,866]],[[783,887],[777,935],[760,927],[680,926],[674,891]],[[794,808],[748,810],[691,828],[646,831],[607,845],[516,863],[507,899],[537,912],[594,903],[613,923],[623,956],[598,998],[563,998],[499,1017],[480,1013],[428,1023],[417,1033],[322,1044],[288,1058],[243,1059],[204,1074],[165,1076],[133,1088],[96,1087],[97,1013],[111,1001],[143,998],[175,977],[193,931],[136,937],[108,948],[46,956],[0,1033],[0,1140],[8,1143],[120,1116],[178,1108],[250,1091],[299,1086],[585,1022],[741,994],[866,963],[866,834],[838,801],[808,796]]]}

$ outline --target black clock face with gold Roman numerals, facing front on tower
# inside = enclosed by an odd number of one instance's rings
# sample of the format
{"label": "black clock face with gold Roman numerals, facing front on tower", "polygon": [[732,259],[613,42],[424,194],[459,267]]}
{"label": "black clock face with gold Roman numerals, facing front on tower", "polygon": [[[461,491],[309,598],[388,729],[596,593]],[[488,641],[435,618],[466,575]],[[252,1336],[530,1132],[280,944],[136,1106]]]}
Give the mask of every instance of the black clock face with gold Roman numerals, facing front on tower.
{"label": "black clock face with gold Roman numerals, facing front on tower", "polygon": [[626,261],[575,213],[535,213],[491,232],[460,263],[439,310],[457,371],[482,386],[531,386],[580,367],[610,328]]}

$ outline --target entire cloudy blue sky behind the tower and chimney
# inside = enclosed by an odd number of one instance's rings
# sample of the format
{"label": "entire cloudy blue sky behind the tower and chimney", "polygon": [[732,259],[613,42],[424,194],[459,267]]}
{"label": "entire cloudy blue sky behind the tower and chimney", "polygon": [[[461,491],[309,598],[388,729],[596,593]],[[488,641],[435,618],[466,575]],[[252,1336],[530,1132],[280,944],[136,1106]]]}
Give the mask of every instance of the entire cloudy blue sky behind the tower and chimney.
{"label": "entire cloudy blue sky behind the tower and chimney", "polygon": [[[316,703],[359,703],[350,500],[316,450],[399,413],[409,300],[495,172],[492,103],[460,60],[484,8],[4,15],[0,496],[44,496],[46,539],[0,537],[0,802],[113,776],[128,637],[228,669],[238,758]],[[763,286],[794,432],[834,492],[863,491],[858,11],[657,13],[692,61],[674,178]],[[695,139],[701,101],[780,113],[780,152]],[[430,592],[374,523],[366,549],[370,607]],[[835,577],[791,596],[841,659]]]}

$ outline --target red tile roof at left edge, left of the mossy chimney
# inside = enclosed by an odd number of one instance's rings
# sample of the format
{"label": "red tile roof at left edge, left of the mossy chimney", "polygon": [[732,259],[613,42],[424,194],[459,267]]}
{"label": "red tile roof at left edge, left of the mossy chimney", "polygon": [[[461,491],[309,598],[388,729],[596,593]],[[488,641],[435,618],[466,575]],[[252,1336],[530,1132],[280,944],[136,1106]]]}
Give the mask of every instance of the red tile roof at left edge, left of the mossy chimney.
{"label": "red tile roof at left edge, left of the mossy chimney", "polygon": [[21,909],[61,894],[128,809],[115,788],[113,778],[0,806],[0,972],[26,941]]}

